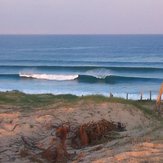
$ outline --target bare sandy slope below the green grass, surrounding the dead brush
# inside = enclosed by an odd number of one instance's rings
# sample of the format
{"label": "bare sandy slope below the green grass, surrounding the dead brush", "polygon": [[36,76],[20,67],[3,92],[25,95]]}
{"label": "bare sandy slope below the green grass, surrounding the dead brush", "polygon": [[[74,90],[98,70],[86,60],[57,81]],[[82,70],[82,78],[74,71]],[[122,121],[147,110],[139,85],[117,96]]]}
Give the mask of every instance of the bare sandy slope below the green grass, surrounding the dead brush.
{"label": "bare sandy slope below the green grass, surrounding the dead brush", "polygon": [[[0,162],[27,163],[28,157],[20,156],[23,148],[21,136],[47,148],[55,141],[51,133],[54,124],[69,121],[76,126],[89,121],[106,119],[126,124],[127,131],[119,139],[83,149],[72,149],[78,157],[70,162],[163,162],[163,128],[159,123],[145,116],[139,109],[128,104],[93,103],[80,101],[75,106],[62,106],[33,112],[0,106]],[[156,130],[155,128],[158,127]],[[157,141],[156,141],[157,140]],[[45,160],[43,160],[45,162]]]}

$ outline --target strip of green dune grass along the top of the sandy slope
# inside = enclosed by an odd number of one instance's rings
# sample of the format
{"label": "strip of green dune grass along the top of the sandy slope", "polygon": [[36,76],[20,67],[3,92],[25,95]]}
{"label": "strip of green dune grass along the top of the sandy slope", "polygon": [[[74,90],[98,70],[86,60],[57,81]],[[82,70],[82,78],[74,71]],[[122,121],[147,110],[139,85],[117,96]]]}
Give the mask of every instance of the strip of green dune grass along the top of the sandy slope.
{"label": "strip of green dune grass along the top of the sandy slope", "polygon": [[64,105],[74,105],[79,101],[92,102],[92,103],[122,103],[133,105],[140,109],[144,114],[152,117],[158,117],[154,110],[149,109],[147,106],[155,104],[155,101],[134,101],[125,100],[122,98],[108,98],[102,95],[89,95],[89,96],[75,96],[71,94],[65,95],[52,95],[52,94],[25,94],[19,91],[0,92],[0,105],[8,105],[10,107],[34,109],[38,107],[47,107],[55,103],[62,103]]}

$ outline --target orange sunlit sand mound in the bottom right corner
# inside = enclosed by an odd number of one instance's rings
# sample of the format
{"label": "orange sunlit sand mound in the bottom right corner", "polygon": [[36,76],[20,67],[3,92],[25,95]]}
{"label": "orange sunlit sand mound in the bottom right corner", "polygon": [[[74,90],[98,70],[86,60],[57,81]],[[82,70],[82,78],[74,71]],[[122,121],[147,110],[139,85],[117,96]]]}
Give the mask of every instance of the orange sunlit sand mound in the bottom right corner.
{"label": "orange sunlit sand mound in the bottom right corner", "polygon": [[[122,147],[121,147],[122,148]],[[101,159],[97,159],[96,161],[92,161],[93,163],[108,163],[108,162],[130,162],[130,163],[138,163],[138,162],[162,162],[163,161],[163,144],[161,142],[158,143],[139,143],[131,147],[127,152],[121,152],[118,154],[114,154],[114,156],[108,156]]]}

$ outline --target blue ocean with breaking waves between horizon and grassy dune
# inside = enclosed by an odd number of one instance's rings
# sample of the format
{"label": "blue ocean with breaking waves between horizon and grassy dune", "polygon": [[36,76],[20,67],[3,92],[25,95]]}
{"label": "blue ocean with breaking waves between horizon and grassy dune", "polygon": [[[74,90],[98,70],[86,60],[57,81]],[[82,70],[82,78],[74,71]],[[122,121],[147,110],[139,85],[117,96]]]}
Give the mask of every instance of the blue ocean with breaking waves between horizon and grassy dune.
{"label": "blue ocean with breaking waves between horizon and grassy dune", "polygon": [[163,35],[0,35],[0,91],[155,99]]}

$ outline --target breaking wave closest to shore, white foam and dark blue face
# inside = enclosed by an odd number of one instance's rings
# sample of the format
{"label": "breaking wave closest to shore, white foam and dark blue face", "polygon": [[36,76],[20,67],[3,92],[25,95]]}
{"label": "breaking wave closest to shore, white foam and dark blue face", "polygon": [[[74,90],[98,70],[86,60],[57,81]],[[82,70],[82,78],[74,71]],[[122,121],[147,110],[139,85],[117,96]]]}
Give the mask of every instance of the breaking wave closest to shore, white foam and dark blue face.
{"label": "breaking wave closest to shore, white foam and dark blue face", "polygon": [[37,79],[37,80],[54,80],[54,81],[78,81],[85,83],[104,82],[116,84],[123,82],[161,82],[163,78],[133,77],[119,75],[93,75],[93,74],[38,74],[38,73],[19,73],[19,74],[0,74],[0,78],[12,79]]}

